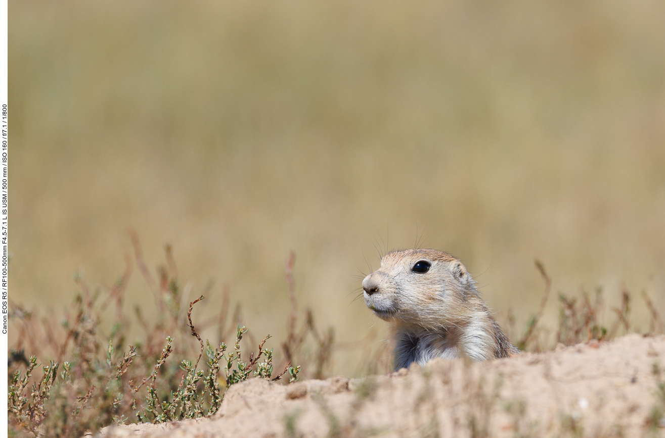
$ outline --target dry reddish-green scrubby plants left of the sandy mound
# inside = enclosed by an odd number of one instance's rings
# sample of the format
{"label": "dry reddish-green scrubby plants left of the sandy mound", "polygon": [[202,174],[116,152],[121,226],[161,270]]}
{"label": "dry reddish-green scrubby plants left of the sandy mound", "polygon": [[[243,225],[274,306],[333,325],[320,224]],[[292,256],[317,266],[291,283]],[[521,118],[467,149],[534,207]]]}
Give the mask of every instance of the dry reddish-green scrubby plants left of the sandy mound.
{"label": "dry reddish-green scrubby plants left of the sandy mound", "polygon": [[[159,315],[156,324],[150,326],[140,308],[135,308],[135,319],[144,329],[138,342],[127,345],[130,318],[122,310],[131,265],[114,286],[94,292],[76,275],[80,292],[60,321],[53,314],[39,319],[21,306],[12,306],[11,320],[19,336],[9,354],[11,435],[79,437],[112,423],[161,423],[209,416],[219,410],[225,389],[250,376],[275,382],[287,375],[290,382],[297,380],[301,367],[291,366],[291,362],[273,376],[273,350],[265,347],[269,335],[256,354],[251,352],[248,357],[245,349],[243,355],[240,344],[247,329],[241,326],[239,314],[227,327],[227,300],[214,323],[221,338],[233,334],[235,341],[231,340],[229,348],[224,342],[215,348],[206,340],[204,348],[192,323],[194,305],[204,296],[186,305],[168,245],[168,265],[159,269],[157,286],[146,269],[135,235],[133,240],[136,265],[152,288]],[[101,314],[111,301],[116,306],[116,317],[110,331],[106,331]],[[187,342],[188,331],[198,340],[196,346]],[[200,350],[196,351],[198,346]],[[284,348],[289,358],[299,352],[299,346],[288,341]],[[204,351],[207,368],[202,370],[199,362]],[[42,367],[43,376],[35,372],[39,366],[35,355],[41,356],[40,360],[53,359]],[[220,376],[223,382],[218,382]]]}

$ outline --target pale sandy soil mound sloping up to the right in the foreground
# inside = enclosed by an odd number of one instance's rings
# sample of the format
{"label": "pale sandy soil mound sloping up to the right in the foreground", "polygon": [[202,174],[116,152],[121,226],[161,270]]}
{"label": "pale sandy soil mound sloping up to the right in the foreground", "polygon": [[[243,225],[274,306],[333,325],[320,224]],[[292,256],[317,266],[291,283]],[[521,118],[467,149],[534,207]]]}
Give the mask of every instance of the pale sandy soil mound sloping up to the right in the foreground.
{"label": "pale sandy soil mound sloping up to the right in the foreground", "polygon": [[208,419],[102,429],[144,437],[643,437],[665,379],[665,336],[636,334],[544,354],[435,360],[387,376],[234,385]]}

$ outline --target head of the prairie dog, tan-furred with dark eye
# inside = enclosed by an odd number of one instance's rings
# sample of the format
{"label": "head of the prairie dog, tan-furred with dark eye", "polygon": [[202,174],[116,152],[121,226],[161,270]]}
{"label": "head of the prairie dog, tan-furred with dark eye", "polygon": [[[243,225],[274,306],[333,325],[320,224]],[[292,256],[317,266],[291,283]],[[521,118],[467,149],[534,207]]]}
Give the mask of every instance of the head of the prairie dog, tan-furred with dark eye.
{"label": "head of the prairie dog, tan-furred with dark eye", "polygon": [[433,249],[384,255],[362,288],[365,304],[382,320],[424,328],[459,324],[469,315],[469,299],[477,298],[464,265]]}

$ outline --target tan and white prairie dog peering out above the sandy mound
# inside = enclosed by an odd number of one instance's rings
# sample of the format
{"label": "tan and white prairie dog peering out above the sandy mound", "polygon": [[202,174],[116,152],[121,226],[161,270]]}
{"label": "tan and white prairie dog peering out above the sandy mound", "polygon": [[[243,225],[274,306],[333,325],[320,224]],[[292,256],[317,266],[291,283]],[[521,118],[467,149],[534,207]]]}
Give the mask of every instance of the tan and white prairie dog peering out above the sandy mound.
{"label": "tan and white prairie dog peering out above the sandy mound", "polygon": [[434,358],[506,358],[519,352],[485,306],[462,263],[441,251],[384,255],[362,280],[365,304],[394,329],[394,368]]}

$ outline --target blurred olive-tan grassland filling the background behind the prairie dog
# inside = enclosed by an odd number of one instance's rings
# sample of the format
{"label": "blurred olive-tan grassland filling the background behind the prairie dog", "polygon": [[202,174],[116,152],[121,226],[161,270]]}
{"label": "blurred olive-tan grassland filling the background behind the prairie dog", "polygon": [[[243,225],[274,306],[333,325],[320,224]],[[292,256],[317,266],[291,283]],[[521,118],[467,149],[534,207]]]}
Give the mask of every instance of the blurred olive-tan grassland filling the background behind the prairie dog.
{"label": "blurred olive-tan grassland filling the background behind the prairie dog", "polygon": [[[215,278],[195,324],[226,284],[257,336],[285,336],[293,250],[319,326],[385,337],[356,267],[417,233],[518,325],[534,258],[663,312],[663,29],[658,0],[11,0],[11,299],[111,284],[132,227],[192,298]],[[127,301],[152,303],[136,270]]]}

